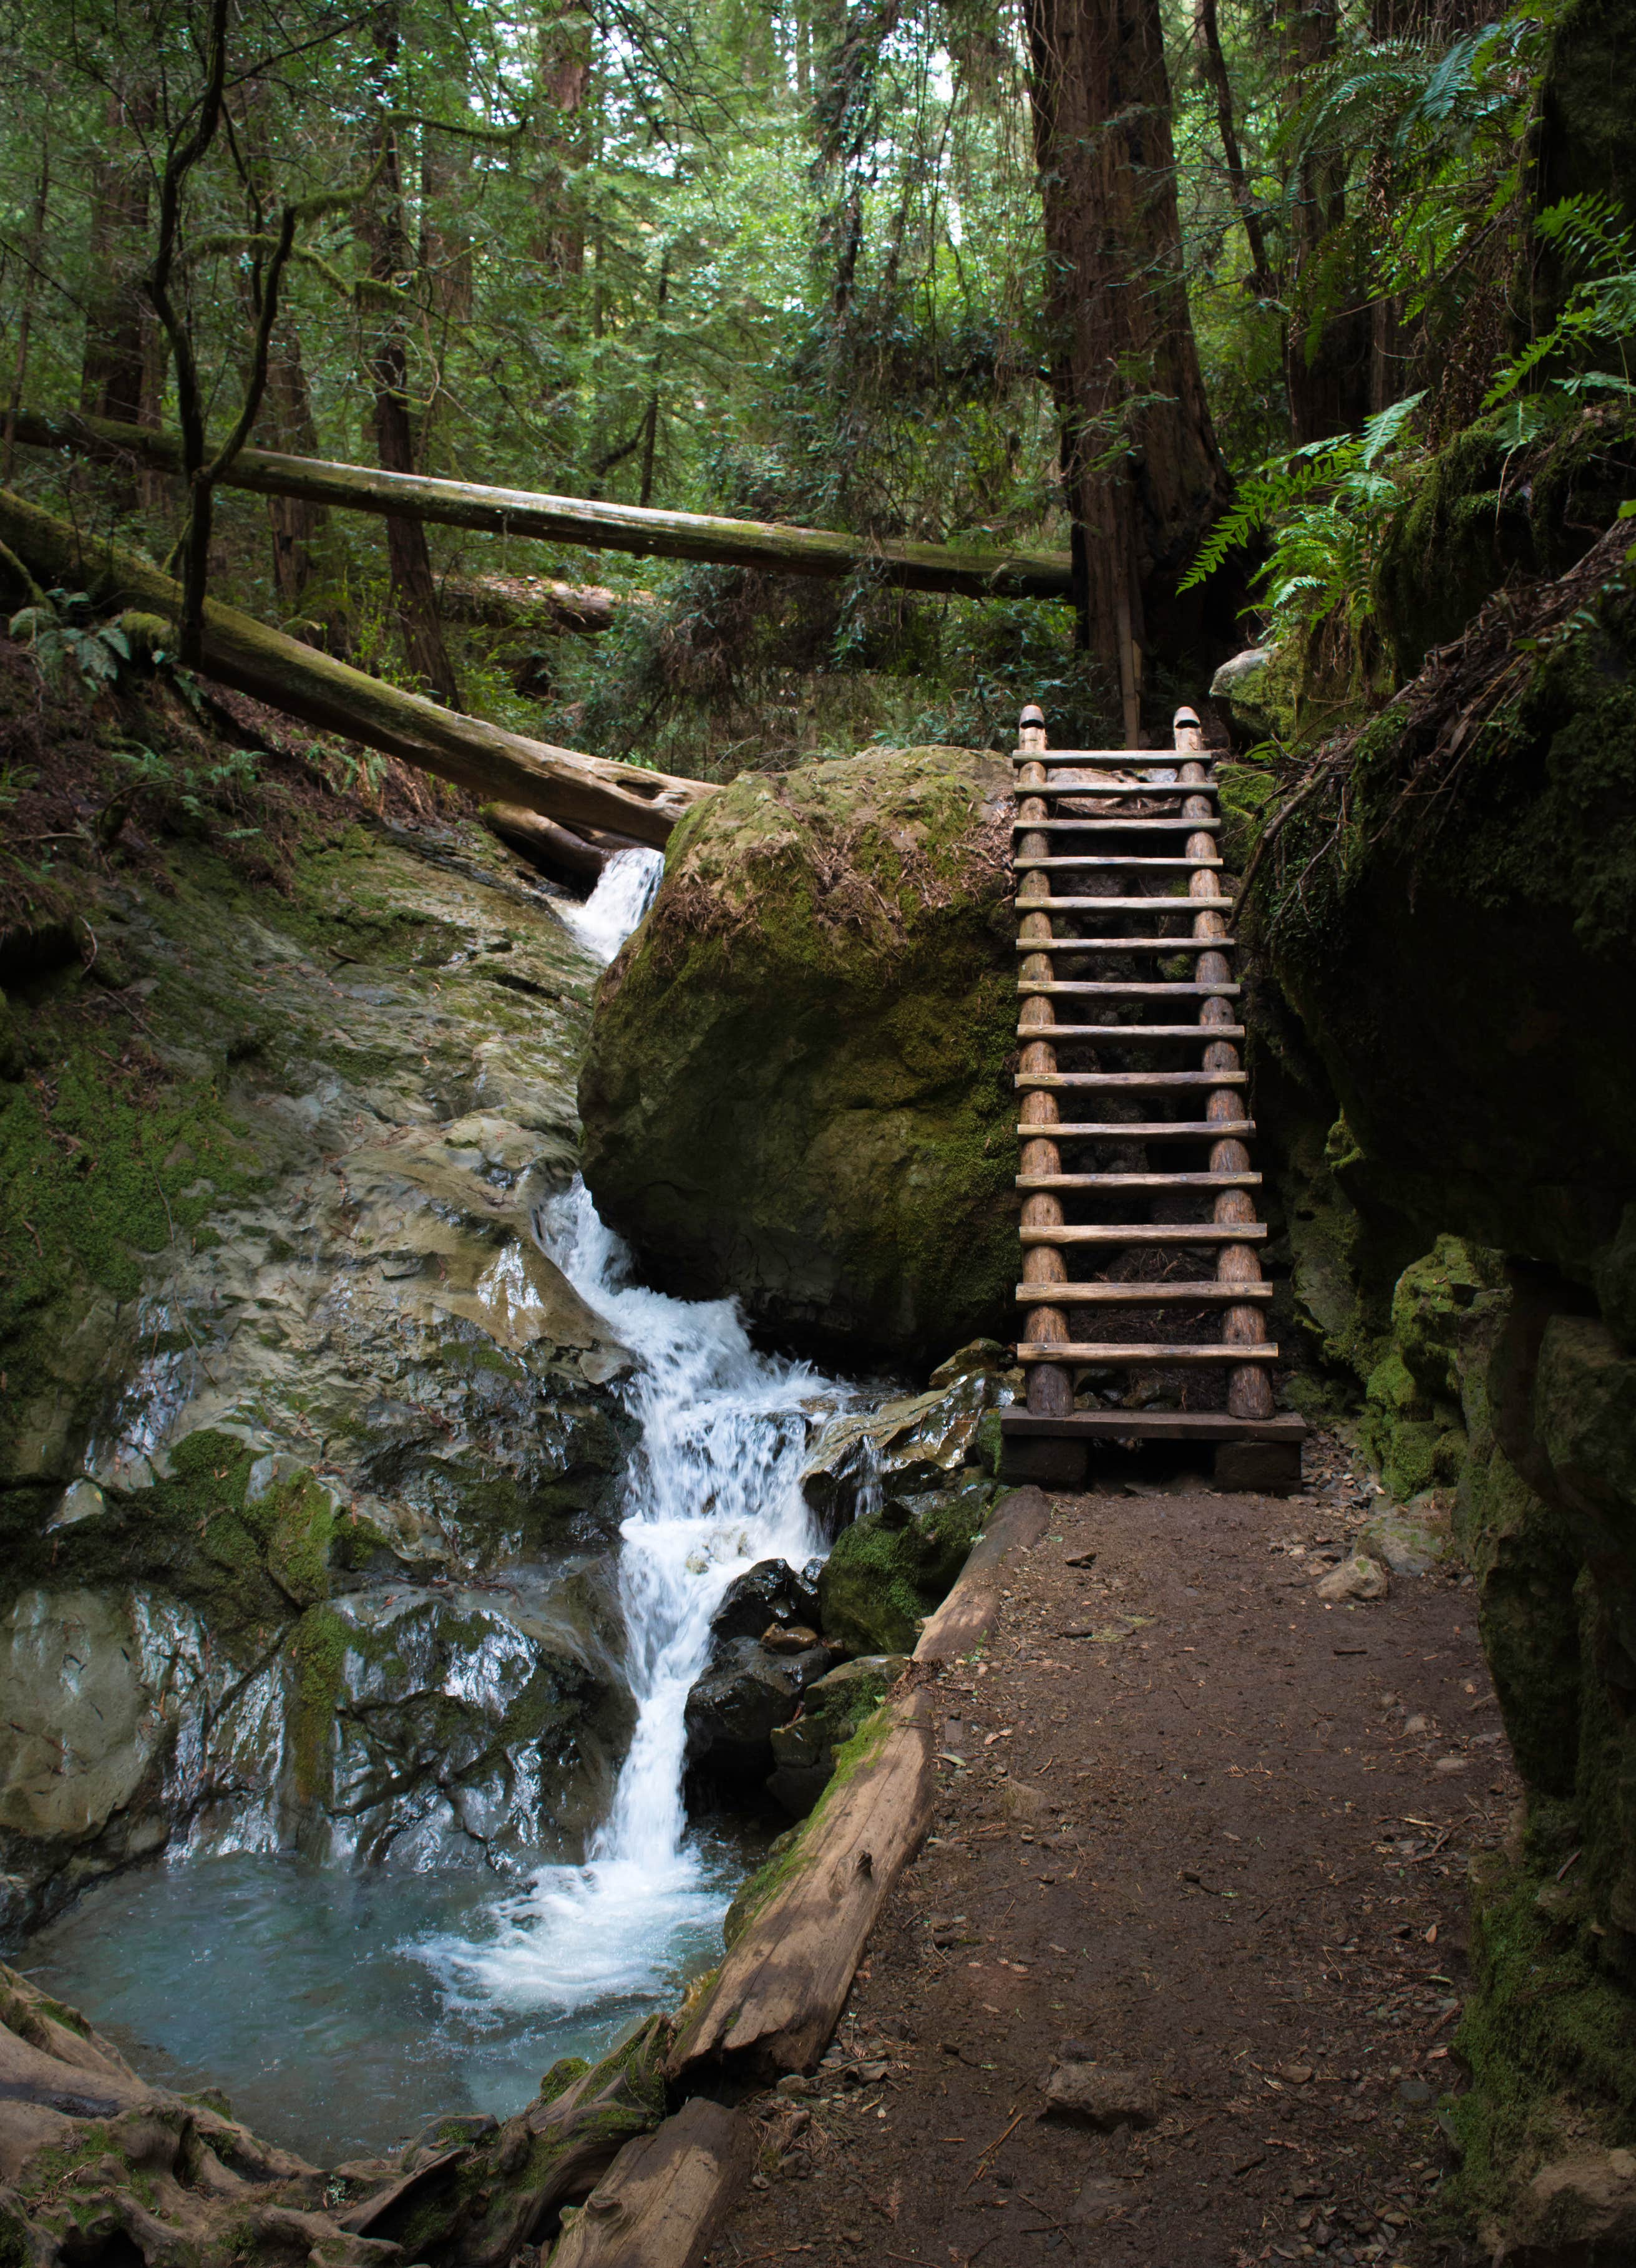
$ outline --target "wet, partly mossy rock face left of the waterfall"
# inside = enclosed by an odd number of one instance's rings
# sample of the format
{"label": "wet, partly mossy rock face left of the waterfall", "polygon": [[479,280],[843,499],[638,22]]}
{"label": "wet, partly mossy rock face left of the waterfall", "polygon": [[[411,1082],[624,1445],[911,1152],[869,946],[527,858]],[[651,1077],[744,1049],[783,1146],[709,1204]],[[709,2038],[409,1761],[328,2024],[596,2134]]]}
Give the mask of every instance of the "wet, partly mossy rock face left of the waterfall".
{"label": "wet, partly mossy rock face left of the waterfall", "polygon": [[[0,1921],[184,1833],[576,1855],[629,1737],[583,1569],[633,1356],[533,1220],[594,966],[477,830],[354,830],[288,900],[184,857],[175,896],[111,887],[98,939],[125,1014],[77,959],[29,975],[11,1027],[54,1084],[0,1086],[59,1222],[0,1347]],[[138,1109],[107,1073],[132,1014]],[[95,1170],[52,1216],[82,1057]]]}

